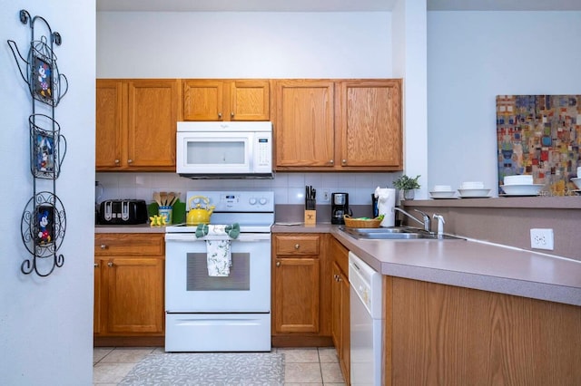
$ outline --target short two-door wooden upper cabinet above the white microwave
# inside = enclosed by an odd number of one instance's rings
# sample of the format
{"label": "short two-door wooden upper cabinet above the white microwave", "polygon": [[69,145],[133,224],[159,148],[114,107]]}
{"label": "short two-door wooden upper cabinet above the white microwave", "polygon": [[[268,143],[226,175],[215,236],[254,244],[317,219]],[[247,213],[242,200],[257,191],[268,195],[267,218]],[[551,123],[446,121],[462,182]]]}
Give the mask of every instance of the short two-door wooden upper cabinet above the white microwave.
{"label": "short two-door wooden upper cabinet above the white microwave", "polygon": [[184,121],[269,121],[268,80],[184,80]]}

